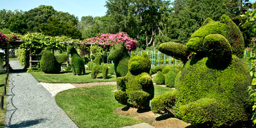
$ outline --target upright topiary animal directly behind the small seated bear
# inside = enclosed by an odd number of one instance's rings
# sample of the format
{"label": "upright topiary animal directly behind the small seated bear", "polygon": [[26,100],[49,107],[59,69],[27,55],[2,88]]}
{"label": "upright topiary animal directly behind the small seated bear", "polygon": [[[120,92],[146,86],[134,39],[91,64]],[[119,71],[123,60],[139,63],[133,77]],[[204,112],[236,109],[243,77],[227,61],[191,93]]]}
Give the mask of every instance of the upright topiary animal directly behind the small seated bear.
{"label": "upright topiary animal directly behind the small seated bear", "polygon": [[111,49],[109,59],[114,60],[116,77],[125,76],[128,72],[130,56],[124,44],[116,44]]}

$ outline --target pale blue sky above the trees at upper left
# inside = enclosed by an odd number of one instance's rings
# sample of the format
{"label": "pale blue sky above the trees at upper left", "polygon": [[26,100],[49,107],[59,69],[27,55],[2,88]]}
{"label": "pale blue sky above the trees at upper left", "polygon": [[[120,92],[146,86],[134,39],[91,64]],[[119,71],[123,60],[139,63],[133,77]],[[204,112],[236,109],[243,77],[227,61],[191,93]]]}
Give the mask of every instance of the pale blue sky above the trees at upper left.
{"label": "pale blue sky above the trees at upper left", "polygon": [[82,16],[104,16],[106,13],[105,0],[9,0],[8,2],[1,2],[0,10],[28,11],[39,5],[50,5],[57,11],[69,12],[78,16],[79,20]]}

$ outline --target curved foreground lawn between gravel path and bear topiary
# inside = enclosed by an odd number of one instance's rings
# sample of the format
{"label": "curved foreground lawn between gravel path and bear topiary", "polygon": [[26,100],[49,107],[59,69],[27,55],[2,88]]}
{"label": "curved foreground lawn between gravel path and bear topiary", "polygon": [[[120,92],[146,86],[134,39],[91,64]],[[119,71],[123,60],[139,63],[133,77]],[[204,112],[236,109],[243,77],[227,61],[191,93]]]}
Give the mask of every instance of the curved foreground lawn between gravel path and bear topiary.
{"label": "curved foreground lawn between gravel path and bear topiary", "polygon": [[[58,93],[55,101],[79,127],[123,127],[143,122],[113,113],[124,106],[115,100],[114,90],[116,85],[76,88]],[[156,96],[168,91],[173,89],[155,86]]]}

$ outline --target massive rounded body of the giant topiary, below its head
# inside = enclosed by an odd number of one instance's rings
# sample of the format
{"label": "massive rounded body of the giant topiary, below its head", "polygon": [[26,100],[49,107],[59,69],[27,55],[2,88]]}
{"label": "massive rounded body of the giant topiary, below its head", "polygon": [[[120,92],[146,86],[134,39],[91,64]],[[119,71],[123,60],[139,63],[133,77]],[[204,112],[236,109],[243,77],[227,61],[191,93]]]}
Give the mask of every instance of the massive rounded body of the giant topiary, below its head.
{"label": "massive rounded body of the giant topiary, below its head", "polygon": [[[208,68],[207,60],[207,57],[194,58],[186,63],[179,79],[177,105],[189,105],[191,102],[198,103],[197,100],[202,98],[216,99],[219,104],[218,107],[226,111],[216,113],[215,117],[228,116],[207,120],[206,123],[208,125],[212,124],[214,127],[230,126],[241,120],[249,119],[250,107],[247,87],[250,86],[251,77],[245,61],[237,56],[232,56],[230,66],[224,70],[218,70]],[[187,106],[186,108],[191,109],[192,107]],[[185,110],[185,108],[182,111],[184,113],[188,113],[188,111],[191,111],[191,114],[195,113],[193,110]],[[198,113],[201,111],[203,110],[198,111]],[[217,110],[207,111],[209,111],[208,113],[215,113]],[[193,115],[197,116],[198,114]],[[183,115],[177,115],[177,117],[185,118]],[[186,120],[190,123],[194,123],[197,119],[197,117],[188,118],[190,119]]]}

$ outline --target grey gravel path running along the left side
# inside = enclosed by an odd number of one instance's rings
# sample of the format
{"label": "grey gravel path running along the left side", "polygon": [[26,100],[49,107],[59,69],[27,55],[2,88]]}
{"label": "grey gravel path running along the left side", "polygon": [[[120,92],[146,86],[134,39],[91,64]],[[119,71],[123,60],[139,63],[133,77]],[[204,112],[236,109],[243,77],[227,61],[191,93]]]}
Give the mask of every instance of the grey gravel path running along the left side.
{"label": "grey gravel path running along the left side", "polygon": [[[12,69],[22,69],[10,61]],[[56,104],[54,97],[26,72],[10,74],[6,127],[78,127]]]}

